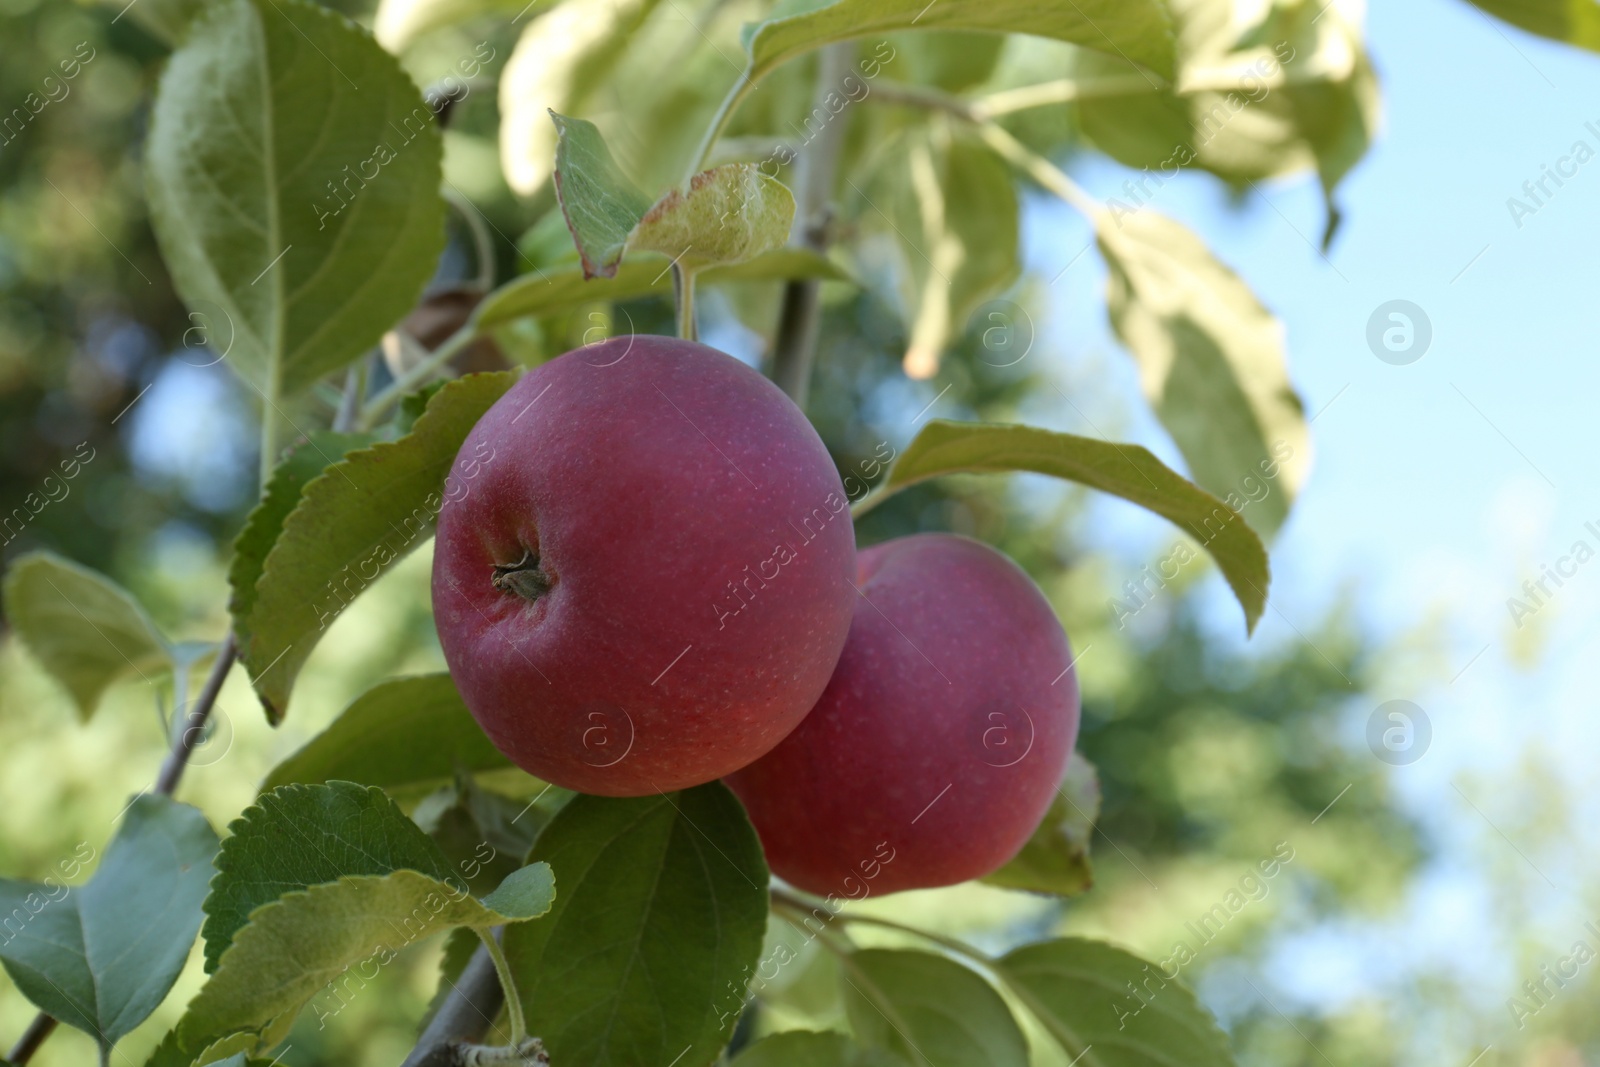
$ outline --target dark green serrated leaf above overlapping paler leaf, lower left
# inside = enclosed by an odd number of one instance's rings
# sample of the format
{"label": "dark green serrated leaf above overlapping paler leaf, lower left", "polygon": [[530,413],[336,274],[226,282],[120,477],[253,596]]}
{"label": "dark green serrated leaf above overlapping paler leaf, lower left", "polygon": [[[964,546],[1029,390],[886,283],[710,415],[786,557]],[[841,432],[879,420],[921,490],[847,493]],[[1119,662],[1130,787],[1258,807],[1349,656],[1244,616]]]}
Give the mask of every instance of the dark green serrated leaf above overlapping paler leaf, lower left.
{"label": "dark green serrated leaf above overlapping paler leaf, lower left", "polygon": [[285,893],[394,870],[459,885],[438,846],[376,787],[282,785],[245,808],[229,832],[205,897],[206,971],[251,913]]}

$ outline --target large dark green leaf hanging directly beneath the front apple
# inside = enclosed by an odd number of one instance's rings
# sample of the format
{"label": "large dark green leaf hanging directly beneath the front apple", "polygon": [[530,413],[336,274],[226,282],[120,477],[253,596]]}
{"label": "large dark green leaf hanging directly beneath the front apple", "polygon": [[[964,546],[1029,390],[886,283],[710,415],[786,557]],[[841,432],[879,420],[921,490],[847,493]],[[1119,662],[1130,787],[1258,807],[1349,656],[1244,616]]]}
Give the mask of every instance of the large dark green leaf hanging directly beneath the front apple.
{"label": "large dark green leaf hanging directly beneath the front apple", "polygon": [[766,862],[733,793],[576,797],[533,859],[562,896],[506,931],[506,957],[550,1062],[710,1064],[766,929]]}

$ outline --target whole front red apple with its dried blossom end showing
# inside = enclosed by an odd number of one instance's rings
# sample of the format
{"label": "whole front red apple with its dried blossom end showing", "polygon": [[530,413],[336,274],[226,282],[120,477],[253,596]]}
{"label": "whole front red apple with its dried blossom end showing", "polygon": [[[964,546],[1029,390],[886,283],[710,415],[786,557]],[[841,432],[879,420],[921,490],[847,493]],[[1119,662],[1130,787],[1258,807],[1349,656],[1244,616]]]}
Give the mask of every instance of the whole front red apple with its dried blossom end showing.
{"label": "whole front red apple with its dried blossom end showing", "polygon": [[451,677],[501,752],[566,789],[736,771],[811,710],[850,632],[856,537],[827,450],[776,386],[701,344],[616,338],[530,371],[467,435],[445,498]]}

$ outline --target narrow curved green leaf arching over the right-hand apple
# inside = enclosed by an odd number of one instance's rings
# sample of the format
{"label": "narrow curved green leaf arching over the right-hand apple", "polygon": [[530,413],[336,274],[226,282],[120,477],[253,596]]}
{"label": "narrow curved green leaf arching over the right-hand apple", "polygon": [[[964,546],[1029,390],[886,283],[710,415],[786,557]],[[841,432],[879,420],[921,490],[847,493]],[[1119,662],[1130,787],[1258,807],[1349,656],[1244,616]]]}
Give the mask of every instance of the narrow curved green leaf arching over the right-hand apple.
{"label": "narrow curved green leaf arching over the right-hand apple", "polygon": [[1222,501],[1186,482],[1139,445],[1117,445],[1032,426],[934,419],[906,446],[883,483],[856,506],[861,515],[885,496],[946,474],[1032,470],[1080,482],[1146,507],[1195,537],[1216,560],[1254,629],[1267,603],[1270,573],[1261,537]]}

